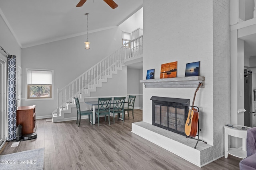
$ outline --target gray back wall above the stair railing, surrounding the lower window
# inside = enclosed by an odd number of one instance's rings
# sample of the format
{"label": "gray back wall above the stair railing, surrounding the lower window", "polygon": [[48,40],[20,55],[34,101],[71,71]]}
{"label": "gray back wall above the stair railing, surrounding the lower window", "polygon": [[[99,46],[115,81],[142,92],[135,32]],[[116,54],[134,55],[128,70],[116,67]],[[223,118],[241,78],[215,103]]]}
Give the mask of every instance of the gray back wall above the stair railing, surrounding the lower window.
{"label": "gray back wall above the stair railing, surrounding the lower window", "polygon": [[[57,88],[63,88],[98,61],[116,51],[121,46],[121,30],[131,32],[142,27],[142,23],[142,10],[139,10],[118,27],[89,33],[90,50],[84,49],[86,35],[22,49],[22,106],[36,105],[38,117],[51,116],[52,111],[57,108]],[[54,70],[54,100],[25,100],[26,68]],[[112,86],[108,91],[115,89],[116,86]]]}

